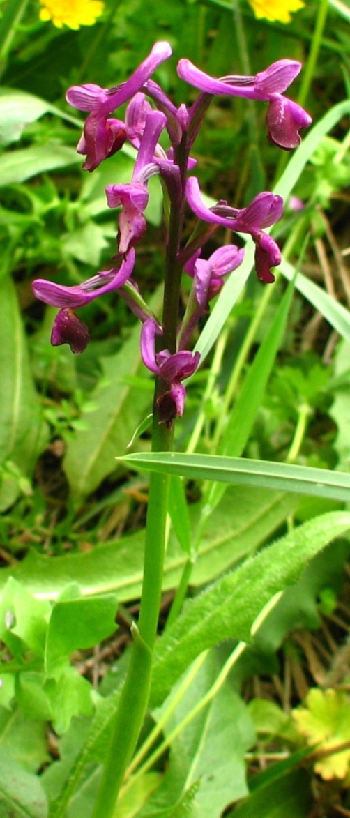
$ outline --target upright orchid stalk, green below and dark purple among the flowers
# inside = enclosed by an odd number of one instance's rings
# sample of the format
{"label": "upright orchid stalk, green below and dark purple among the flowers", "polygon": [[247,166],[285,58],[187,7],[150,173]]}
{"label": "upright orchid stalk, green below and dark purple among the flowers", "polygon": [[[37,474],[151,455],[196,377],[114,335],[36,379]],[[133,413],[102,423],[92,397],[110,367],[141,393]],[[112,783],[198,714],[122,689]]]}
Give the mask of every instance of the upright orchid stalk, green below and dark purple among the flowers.
{"label": "upright orchid stalk, green below and dark purple among the flowers", "polygon": [[[183,187],[186,178],[187,155],[185,144],[177,148]],[[172,203],[169,219],[164,281],[163,348],[175,352],[177,343],[177,313],[180,296],[182,265],[177,261],[183,223],[182,205]],[[173,448],[173,427],[159,424],[158,399],[168,384],[157,379],[153,411],[153,452],[169,452]],[[168,474],[150,475],[150,492],[146,521],[144,570],[141,608],[138,626],[132,627],[132,657],[128,675],[115,712],[112,739],[105,759],[100,787],[96,795],[92,818],[113,818],[119,790],[132,753],[137,745],[150,695],[152,656],[157,634],[159,604],[162,592],[166,523],[168,512]]]}

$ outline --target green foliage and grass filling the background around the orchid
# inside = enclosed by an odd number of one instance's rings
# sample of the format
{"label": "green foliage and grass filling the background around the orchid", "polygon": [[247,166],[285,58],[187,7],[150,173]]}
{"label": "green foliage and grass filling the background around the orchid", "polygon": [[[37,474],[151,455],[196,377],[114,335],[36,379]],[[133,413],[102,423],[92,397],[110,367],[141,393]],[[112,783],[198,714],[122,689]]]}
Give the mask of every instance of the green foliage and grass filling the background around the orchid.
{"label": "green foliage and grass filling the background around the orchid", "polygon": [[[346,263],[348,244],[350,38],[344,4],[330,0],[329,6],[307,98],[315,124],[298,150],[277,167],[276,147],[264,137],[264,106],[254,111],[245,101],[231,105],[220,97],[195,142],[212,202],[227,199],[240,207],[272,187],[285,198],[285,216],[274,232],[284,253],[283,279],[271,295],[254,284],[248,240],[243,265],[196,338],[207,369],[188,384],[169,466],[167,455],[150,456],[144,422],[150,381],[140,362],[139,328],[124,303],[109,294],[84,308],[92,343],[78,358],[49,346],[54,312],[35,303],[31,292],[34,277],[77,285],[111,266],[116,227],[105,185],[132,175],[132,149],[92,174],[81,172],[75,146],[84,115],[66,106],[65,89],[122,83],[155,39],[169,39],[174,58],[155,79],[177,104],[191,104],[195,92],[175,72],[180,56],[214,76],[241,73],[247,60],[248,74],[285,56],[306,62],[321,3],[309,0],[292,25],[281,25],[256,20],[242,0],[243,31],[226,0],[150,0],[147,7],[144,0],[105,0],[96,25],[77,31],[40,21],[37,2],[1,3],[4,818],[92,815],[130,650],[106,672],[101,694],[78,671],[77,656],[114,632],[114,595],[125,605],[140,596],[148,476],[135,478],[128,469],[149,468],[152,458],[152,468],[173,470],[163,590],[180,584],[181,611],[155,648],[151,700],[159,708],[150,713],[137,750],[145,750],[155,731],[155,748],[165,743],[164,752],[147,767],[152,751],[145,751],[140,763],[146,768],[128,773],[114,818],[219,818],[237,800],[231,814],[242,818],[304,818],[311,772],[300,764],[311,770],[312,744],[332,749],[348,741],[345,694],[312,690],[292,723],[276,703],[255,698],[247,706],[237,692],[246,676],[278,672],[276,650],[291,629],[314,629],[321,613],[332,612],[348,556],[347,541],[331,541],[346,536],[350,524],[342,510],[350,497],[350,321],[339,265],[339,258]],[[297,83],[292,96],[298,97]],[[288,208],[292,192],[303,200],[300,212]],[[153,294],[157,316],[161,209],[162,191],[152,179],[149,230],[135,277]],[[315,269],[314,247],[328,240],[328,218],[339,242],[339,255],[334,245],[329,253],[337,299],[321,283],[321,267]],[[189,223],[189,233],[192,228]],[[221,241],[214,237],[211,250]],[[294,283],[284,292],[285,279]],[[315,310],[343,339],[331,363],[328,329],[312,353],[303,352],[301,327]],[[131,440],[137,453],[125,457]],[[280,539],[271,544],[275,536]],[[253,643],[240,644],[230,680],[205,703],[231,649],[230,643],[218,651],[215,645],[252,640],[254,622],[280,591]],[[282,650],[288,649],[289,640]],[[254,729],[259,749],[273,739],[289,757],[247,782],[245,754],[254,747]],[[307,748],[294,750],[300,735]],[[344,781],[347,753],[318,760],[316,772]]]}

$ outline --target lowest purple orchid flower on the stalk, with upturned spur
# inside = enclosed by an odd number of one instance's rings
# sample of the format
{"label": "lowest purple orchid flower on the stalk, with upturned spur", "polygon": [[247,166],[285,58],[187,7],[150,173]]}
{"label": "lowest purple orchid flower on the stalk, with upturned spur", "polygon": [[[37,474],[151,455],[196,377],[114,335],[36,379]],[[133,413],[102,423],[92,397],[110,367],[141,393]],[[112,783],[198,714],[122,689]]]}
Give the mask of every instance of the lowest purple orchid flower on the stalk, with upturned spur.
{"label": "lowest purple orchid flower on the stalk, with upturned spur", "polygon": [[154,318],[149,318],[141,329],[141,357],[147,369],[170,384],[170,389],[157,401],[159,423],[170,428],[176,417],[182,417],[185,407],[186,389],[181,381],[193,375],[200,363],[200,353],[186,349],[173,355],[168,349],[156,353],[156,335],[162,335],[162,330]]}

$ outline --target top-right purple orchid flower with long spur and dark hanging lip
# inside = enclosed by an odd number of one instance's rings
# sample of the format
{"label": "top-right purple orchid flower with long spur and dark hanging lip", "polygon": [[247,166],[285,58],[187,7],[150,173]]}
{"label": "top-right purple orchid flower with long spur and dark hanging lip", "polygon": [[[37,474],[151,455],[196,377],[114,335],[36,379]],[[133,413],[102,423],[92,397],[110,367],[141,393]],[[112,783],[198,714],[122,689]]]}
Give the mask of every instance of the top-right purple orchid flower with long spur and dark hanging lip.
{"label": "top-right purple orchid flower with long spur and dark hanging lip", "polygon": [[285,151],[291,151],[300,144],[299,130],[312,123],[311,116],[301,106],[282,97],[286,88],[298,76],[301,67],[301,63],[296,60],[279,60],[255,76],[232,75],[216,79],[196,68],[189,60],[180,60],[177,74],[204,93],[269,102],[268,137]]}

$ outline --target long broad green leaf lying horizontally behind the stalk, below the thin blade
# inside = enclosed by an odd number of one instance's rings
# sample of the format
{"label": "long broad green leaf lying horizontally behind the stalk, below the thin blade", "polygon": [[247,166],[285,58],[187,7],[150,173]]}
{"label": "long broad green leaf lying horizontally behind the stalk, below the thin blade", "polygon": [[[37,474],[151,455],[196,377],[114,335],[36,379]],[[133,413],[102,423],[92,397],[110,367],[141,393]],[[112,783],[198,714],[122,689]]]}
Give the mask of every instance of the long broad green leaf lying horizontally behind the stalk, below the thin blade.
{"label": "long broad green leaf lying horizontally behind the stalk, below the thin blade", "polygon": [[[281,492],[229,488],[210,516],[200,542],[191,576],[193,585],[209,582],[258,548],[293,514],[297,505],[297,497]],[[189,506],[194,530],[201,508],[200,503]],[[16,566],[0,569],[0,591],[3,593],[7,579],[13,576],[39,599],[56,599],[78,577],[83,596],[116,591],[120,601],[135,599],[141,592],[144,537],[144,531],[137,532],[84,554],[65,554],[54,560],[30,551]],[[165,558],[164,590],[177,585],[186,559],[171,534]]]}

